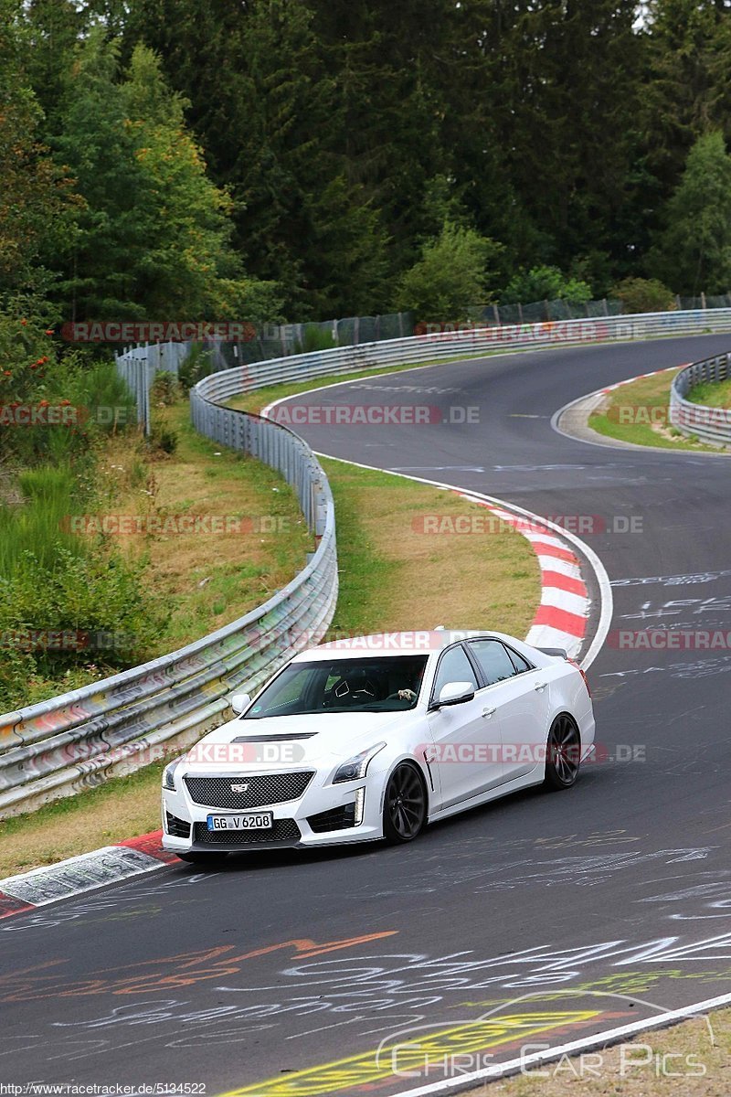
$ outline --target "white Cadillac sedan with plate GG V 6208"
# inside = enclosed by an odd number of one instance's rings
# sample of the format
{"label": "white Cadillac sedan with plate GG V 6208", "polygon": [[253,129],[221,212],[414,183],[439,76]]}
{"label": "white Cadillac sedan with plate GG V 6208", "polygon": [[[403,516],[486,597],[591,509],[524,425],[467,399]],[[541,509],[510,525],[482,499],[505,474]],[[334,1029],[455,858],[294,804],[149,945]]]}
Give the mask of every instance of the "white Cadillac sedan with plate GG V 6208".
{"label": "white Cadillac sedan with plate GG V 6208", "polygon": [[594,742],[576,664],[495,632],[323,644],[232,708],[163,774],[163,846],[186,861],[411,841],[518,789],[570,789]]}

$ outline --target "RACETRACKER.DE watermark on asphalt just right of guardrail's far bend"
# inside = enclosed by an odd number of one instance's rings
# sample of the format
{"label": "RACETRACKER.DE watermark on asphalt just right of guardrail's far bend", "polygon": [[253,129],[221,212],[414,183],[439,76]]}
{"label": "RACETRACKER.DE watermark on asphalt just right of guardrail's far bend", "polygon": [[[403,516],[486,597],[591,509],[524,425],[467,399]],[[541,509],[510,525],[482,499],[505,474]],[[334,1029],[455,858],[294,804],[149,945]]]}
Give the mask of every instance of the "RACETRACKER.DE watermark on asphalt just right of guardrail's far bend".
{"label": "RACETRACKER.DE watermark on asphalt just right of guardrail's far bend", "polygon": [[477,405],[431,404],[278,404],[270,419],[283,427],[472,427],[480,421]]}

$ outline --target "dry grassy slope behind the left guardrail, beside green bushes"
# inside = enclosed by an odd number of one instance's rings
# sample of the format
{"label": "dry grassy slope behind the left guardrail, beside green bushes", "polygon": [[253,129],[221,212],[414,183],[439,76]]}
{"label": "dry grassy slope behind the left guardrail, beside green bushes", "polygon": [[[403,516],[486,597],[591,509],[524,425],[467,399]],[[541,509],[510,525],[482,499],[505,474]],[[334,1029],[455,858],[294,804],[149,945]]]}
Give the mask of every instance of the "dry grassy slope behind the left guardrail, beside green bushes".
{"label": "dry grassy slope behind the left guardrail, beside green bushes", "polygon": [[[107,454],[110,509],[141,513],[170,533],[125,536],[127,551],[147,558],[147,577],[170,618],[152,656],[237,620],[271,598],[305,567],[312,538],[294,490],[267,465],[210,442],[190,421],[187,400],[158,411],[178,436],[174,453],[158,454],[140,484],[139,459],[119,441]],[[181,532],[186,518],[202,532]],[[230,532],[206,532],[208,519]]]}

